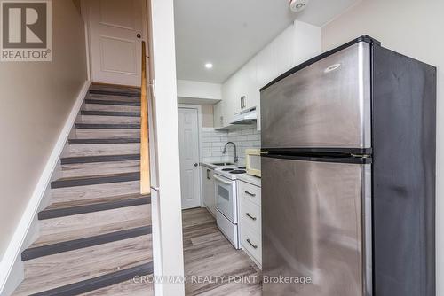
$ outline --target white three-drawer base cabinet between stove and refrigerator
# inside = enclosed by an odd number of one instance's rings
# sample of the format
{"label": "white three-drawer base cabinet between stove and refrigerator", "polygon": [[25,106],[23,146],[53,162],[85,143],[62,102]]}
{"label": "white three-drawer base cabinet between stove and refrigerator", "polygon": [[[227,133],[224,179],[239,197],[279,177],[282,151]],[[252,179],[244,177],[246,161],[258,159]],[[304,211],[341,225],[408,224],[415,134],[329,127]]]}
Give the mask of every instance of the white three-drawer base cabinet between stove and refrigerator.
{"label": "white three-drawer base cabinet between stove and refrigerator", "polygon": [[262,269],[260,187],[238,180],[239,228],[242,250]]}

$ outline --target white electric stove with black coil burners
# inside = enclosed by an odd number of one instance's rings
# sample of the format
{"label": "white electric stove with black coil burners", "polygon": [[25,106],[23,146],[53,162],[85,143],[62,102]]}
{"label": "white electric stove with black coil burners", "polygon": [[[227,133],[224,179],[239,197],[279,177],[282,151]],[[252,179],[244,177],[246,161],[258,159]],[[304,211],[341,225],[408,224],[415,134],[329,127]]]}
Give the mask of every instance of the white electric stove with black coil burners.
{"label": "white electric stove with black coil burners", "polygon": [[238,200],[236,179],[244,175],[245,167],[220,167],[214,171],[216,193],[216,220],[218,229],[236,249],[240,248],[238,222]]}

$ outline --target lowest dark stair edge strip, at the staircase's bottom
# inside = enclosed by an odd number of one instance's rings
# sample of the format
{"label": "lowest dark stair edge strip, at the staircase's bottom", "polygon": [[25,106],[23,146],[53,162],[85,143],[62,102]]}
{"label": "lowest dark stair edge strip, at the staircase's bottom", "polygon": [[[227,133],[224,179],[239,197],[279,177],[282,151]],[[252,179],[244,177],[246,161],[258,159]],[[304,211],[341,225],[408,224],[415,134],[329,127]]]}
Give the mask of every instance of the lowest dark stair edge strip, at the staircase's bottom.
{"label": "lowest dark stair edge strip, at the staircase's bottom", "polygon": [[119,284],[133,277],[147,276],[153,274],[153,262],[136,266],[131,269],[123,269],[112,274],[101,277],[94,277],[75,284],[67,284],[65,286],[32,294],[32,296],[72,296],[85,292],[99,290],[110,285]]}

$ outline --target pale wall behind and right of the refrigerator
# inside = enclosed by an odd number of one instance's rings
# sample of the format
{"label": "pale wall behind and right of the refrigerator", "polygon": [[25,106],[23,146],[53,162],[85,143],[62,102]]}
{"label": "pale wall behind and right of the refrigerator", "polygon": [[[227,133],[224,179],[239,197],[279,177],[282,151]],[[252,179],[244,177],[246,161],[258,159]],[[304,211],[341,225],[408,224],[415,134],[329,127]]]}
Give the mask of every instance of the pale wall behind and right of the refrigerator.
{"label": "pale wall behind and right of the refrigerator", "polygon": [[438,67],[436,251],[437,295],[444,295],[444,1],[364,0],[322,28],[329,50],[359,35]]}

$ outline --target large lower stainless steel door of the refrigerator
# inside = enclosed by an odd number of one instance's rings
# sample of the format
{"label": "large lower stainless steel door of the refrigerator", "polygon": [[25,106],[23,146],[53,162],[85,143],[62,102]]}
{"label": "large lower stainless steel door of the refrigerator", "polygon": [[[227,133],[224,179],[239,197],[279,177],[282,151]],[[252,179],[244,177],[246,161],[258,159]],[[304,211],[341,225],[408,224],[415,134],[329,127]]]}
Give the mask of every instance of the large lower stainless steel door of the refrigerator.
{"label": "large lower stainless steel door of the refrigerator", "polygon": [[262,295],[371,295],[370,165],[263,157],[262,167]]}

